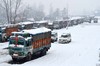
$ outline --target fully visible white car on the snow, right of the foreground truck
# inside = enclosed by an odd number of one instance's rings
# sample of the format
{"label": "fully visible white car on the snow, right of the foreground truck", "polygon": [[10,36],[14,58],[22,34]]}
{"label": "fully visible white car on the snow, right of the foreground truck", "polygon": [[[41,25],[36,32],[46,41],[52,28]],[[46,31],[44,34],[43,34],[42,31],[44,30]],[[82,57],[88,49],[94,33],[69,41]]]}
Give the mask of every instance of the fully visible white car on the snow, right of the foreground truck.
{"label": "fully visible white car on the snow, right of the foreground truck", "polygon": [[71,42],[71,34],[70,33],[63,33],[59,37],[59,43],[69,43]]}

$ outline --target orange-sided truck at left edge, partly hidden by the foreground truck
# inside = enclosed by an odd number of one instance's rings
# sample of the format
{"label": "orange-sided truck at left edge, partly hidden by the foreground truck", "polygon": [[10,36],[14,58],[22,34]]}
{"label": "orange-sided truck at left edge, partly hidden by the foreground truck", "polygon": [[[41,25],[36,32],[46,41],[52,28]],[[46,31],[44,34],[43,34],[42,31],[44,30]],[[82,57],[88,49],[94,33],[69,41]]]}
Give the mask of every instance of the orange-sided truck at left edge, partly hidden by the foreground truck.
{"label": "orange-sided truck at left edge, partly hidden by the foreground truck", "polygon": [[11,36],[11,33],[14,31],[18,31],[17,24],[8,24],[4,26],[0,26],[0,42],[7,41]]}

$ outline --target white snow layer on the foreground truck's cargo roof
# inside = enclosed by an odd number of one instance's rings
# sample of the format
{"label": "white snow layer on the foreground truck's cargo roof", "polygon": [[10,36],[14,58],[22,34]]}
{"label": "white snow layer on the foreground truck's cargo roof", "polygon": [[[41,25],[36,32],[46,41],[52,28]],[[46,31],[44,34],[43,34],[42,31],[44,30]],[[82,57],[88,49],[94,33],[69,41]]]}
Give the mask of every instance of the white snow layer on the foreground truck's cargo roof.
{"label": "white snow layer on the foreground truck's cargo roof", "polygon": [[37,29],[30,29],[30,30],[23,30],[23,32],[27,32],[30,34],[45,33],[45,32],[49,32],[49,31],[51,31],[51,30],[48,28],[45,28],[45,27],[41,27],[41,28],[37,28]]}

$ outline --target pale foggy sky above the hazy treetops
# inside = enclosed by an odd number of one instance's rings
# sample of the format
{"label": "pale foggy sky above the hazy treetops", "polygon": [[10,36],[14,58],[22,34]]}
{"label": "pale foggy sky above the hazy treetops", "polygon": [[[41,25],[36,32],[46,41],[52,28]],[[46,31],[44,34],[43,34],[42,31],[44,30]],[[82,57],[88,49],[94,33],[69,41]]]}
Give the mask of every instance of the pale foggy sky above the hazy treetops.
{"label": "pale foggy sky above the hazy treetops", "polygon": [[69,14],[71,15],[91,13],[100,7],[99,2],[100,0],[24,0],[25,4],[31,6],[34,4],[43,4],[46,13],[49,12],[50,5],[54,9],[63,9],[64,7],[67,8],[68,4]]}

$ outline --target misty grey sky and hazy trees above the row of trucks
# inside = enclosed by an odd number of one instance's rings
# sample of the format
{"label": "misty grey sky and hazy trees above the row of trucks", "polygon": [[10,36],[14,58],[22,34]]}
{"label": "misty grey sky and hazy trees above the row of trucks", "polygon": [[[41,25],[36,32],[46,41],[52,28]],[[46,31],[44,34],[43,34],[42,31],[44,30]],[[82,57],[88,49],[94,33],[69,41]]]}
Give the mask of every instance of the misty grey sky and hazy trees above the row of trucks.
{"label": "misty grey sky and hazy trees above the row of trucks", "polygon": [[100,16],[99,0],[0,0],[0,23]]}

